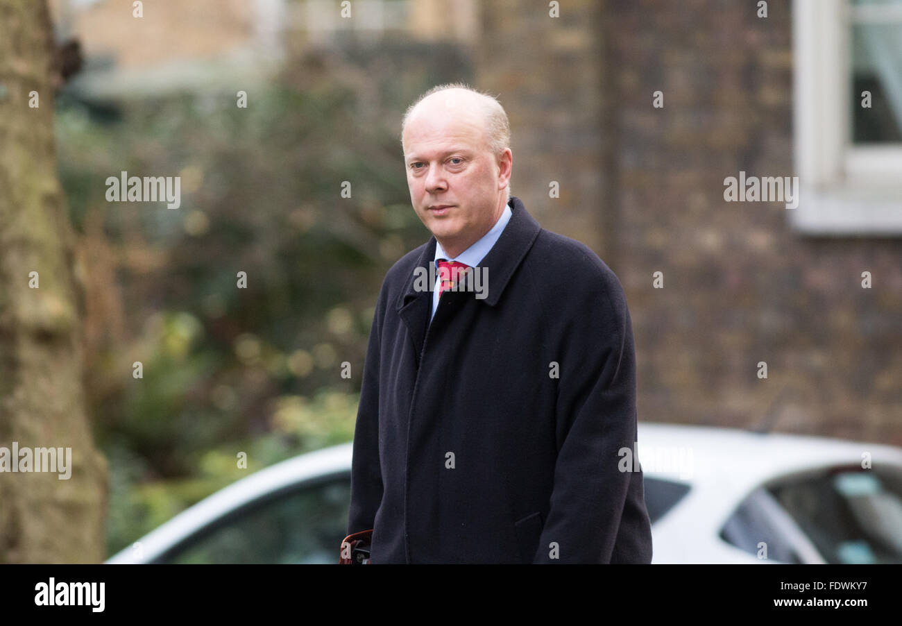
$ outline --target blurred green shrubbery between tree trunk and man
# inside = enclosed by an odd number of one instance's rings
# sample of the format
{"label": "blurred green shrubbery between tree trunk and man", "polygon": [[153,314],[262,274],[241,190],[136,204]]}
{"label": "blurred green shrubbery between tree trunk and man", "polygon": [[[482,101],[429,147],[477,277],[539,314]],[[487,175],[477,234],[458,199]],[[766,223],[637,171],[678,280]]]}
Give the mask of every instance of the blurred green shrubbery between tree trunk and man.
{"label": "blurred green shrubbery between tree trunk and man", "polygon": [[[382,277],[428,237],[400,115],[434,77],[424,67],[403,94],[384,70],[329,62],[239,87],[247,108],[202,89],[59,98],[110,554],[228,483],[353,436]],[[122,170],[180,176],[181,207],[107,203],[106,178]]]}

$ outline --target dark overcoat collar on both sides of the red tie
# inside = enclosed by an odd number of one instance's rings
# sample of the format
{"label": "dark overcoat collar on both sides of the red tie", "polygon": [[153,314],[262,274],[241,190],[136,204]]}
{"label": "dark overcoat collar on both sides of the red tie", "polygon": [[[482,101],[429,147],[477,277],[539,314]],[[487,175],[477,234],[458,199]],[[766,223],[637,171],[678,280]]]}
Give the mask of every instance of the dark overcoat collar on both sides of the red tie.
{"label": "dark overcoat collar on both sides of the red tie", "polygon": [[[523,207],[520,198],[511,196],[511,221],[504,227],[502,235],[492,246],[492,250],[485,255],[480,267],[487,267],[489,271],[488,295],[482,301],[489,306],[495,306],[502,297],[504,288],[511,280],[513,272],[520,267],[523,257],[529,252],[529,248],[536,240],[542,229],[533,216],[530,216]],[[415,289],[414,279],[416,268],[421,267],[428,272],[428,266],[436,254],[436,237],[432,235],[419,254],[416,265],[411,268],[407,278],[405,290],[400,292],[395,308],[398,315],[407,324],[411,336],[418,344],[425,335],[426,322],[429,311],[432,310],[432,291],[418,291]],[[433,319],[435,323],[435,319]],[[418,351],[419,354],[419,351]]]}

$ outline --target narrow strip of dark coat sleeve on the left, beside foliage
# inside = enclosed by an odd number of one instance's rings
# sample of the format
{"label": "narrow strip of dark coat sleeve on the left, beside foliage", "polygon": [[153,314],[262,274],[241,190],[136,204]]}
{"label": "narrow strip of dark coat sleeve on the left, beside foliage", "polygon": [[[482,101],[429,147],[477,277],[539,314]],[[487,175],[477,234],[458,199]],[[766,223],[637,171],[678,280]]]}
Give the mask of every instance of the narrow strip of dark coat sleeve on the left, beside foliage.
{"label": "narrow strip of dark coat sleeve on the left, beside foliage", "polygon": [[373,327],[370,329],[370,339],[366,348],[360,404],[357,407],[357,421],[354,426],[348,535],[373,529],[376,511],[382,502],[382,469],[379,461],[379,362],[385,290],[383,282],[373,313]]}

